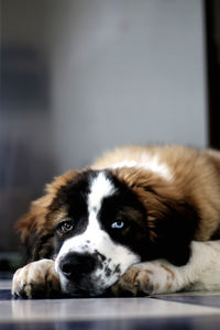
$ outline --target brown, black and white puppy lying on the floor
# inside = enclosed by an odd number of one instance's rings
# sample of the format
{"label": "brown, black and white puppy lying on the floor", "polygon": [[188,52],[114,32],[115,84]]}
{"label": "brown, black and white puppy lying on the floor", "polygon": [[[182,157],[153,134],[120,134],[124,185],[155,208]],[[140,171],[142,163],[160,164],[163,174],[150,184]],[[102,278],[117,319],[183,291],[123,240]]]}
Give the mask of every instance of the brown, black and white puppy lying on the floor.
{"label": "brown, black and white puppy lying on the floor", "polygon": [[18,229],[14,297],[220,289],[220,153],[118,148],[56,177]]}

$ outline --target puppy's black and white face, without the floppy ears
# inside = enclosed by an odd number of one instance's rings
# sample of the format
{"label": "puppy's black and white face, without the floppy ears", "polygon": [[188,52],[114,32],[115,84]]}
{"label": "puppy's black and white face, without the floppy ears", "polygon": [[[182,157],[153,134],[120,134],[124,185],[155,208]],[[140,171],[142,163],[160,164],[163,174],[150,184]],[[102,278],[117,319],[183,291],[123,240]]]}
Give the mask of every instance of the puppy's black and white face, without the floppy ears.
{"label": "puppy's black and white face, without the floppy ears", "polygon": [[145,209],[111,173],[78,175],[54,200],[55,212],[57,202],[55,267],[65,293],[102,294],[141,261],[133,242],[147,235]]}

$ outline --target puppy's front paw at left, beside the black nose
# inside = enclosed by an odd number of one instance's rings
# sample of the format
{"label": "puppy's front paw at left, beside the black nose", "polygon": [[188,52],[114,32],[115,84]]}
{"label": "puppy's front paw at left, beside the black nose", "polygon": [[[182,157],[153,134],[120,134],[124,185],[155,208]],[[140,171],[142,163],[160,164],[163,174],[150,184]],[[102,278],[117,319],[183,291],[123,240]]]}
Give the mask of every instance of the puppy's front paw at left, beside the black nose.
{"label": "puppy's front paw at left, beside the black nose", "polygon": [[48,298],[59,293],[59,279],[52,260],[30,263],[13,276],[12,295],[16,298]]}

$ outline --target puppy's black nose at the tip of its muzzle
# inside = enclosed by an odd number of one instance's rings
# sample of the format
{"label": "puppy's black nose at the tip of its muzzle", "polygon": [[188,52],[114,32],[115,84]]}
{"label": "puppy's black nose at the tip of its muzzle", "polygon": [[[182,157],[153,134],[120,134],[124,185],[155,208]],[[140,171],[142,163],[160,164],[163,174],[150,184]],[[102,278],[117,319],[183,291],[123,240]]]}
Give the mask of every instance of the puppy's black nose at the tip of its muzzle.
{"label": "puppy's black nose at the tip of its muzzle", "polygon": [[88,253],[68,253],[59,264],[62,273],[68,279],[78,279],[91,273],[96,267],[96,260]]}

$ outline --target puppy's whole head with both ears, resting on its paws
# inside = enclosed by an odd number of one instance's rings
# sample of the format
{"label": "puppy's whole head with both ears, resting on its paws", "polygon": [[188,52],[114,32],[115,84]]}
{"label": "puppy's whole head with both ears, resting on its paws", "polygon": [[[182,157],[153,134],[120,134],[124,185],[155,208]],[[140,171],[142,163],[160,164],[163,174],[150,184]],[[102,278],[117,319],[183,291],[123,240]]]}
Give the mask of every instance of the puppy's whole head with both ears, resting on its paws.
{"label": "puppy's whole head with both ears, resting on its paws", "polygon": [[197,218],[155,174],[87,169],[48,185],[19,229],[33,260],[55,258],[64,293],[95,296],[141,261],[185,264]]}

